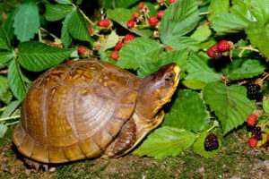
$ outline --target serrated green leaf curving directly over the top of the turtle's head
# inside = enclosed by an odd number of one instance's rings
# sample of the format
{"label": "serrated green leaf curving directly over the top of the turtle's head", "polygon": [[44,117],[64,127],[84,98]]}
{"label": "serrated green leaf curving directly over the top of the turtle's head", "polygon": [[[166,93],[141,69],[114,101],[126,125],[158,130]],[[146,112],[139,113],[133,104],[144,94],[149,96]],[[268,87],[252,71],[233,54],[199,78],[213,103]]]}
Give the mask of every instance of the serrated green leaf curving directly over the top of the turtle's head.
{"label": "serrated green leaf curving directly over the top of the turtle's head", "polygon": [[185,76],[187,71],[187,55],[188,50],[173,50],[170,52],[163,52],[156,62],[147,62],[139,65],[137,71],[138,76],[144,77],[152,72],[156,72],[161,66],[170,63],[176,63],[180,67],[180,78]]}

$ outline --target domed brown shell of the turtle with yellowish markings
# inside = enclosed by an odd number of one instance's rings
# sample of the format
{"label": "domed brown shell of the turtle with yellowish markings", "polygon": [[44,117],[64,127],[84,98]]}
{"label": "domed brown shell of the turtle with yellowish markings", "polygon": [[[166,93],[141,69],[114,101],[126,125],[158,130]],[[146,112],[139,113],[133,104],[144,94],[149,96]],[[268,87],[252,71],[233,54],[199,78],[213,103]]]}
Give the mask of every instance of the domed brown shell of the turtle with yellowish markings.
{"label": "domed brown shell of the turtle with yellowish markings", "polygon": [[133,114],[140,81],[99,60],[60,64],[33,82],[13,143],[44,163],[100,157]]}

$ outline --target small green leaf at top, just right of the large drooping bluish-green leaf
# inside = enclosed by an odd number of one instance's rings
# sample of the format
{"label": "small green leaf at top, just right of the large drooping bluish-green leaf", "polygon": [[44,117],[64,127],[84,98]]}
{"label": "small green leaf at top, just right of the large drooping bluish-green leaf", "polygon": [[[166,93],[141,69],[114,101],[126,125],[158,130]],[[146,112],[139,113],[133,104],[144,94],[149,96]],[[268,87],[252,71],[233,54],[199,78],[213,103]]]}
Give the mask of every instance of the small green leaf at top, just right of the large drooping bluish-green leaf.
{"label": "small green leaf at top, just right of the large drooping bluish-green leaf", "polygon": [[46,4],[44,16],[48,21],[59,21],[72,11],[74,11],[74,7],[70,5]]}

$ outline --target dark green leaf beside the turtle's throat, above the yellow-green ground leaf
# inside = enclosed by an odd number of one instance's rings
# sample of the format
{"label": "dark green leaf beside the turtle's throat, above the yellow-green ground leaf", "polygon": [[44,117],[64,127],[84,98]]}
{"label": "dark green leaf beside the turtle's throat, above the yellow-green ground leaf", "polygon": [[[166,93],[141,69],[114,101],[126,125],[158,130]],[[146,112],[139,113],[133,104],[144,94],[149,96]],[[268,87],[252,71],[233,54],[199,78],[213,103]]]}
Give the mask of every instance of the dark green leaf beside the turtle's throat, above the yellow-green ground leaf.
{"label": "dark green leaf beside the turtle's throat, above the yellow-green ground leaf", "polygon": [[165,114],[162,126],[180,127],[187,131],[203,131],[209,118],[200,94],[192,90],[178,90],[176,100]]}

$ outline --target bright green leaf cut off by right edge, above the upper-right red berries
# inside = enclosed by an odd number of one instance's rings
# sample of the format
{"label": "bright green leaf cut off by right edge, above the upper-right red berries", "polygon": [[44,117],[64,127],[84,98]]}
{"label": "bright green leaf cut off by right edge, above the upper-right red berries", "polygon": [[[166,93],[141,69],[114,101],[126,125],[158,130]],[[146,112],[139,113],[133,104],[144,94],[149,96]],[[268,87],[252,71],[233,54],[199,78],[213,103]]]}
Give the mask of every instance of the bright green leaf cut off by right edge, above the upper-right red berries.
{"label": "bright green leaf cut off by right edge, above the upper-right red berries", "polygon": [[247,27],[246,33],[251,44],[269,59],[269,24],[253,22]]}

